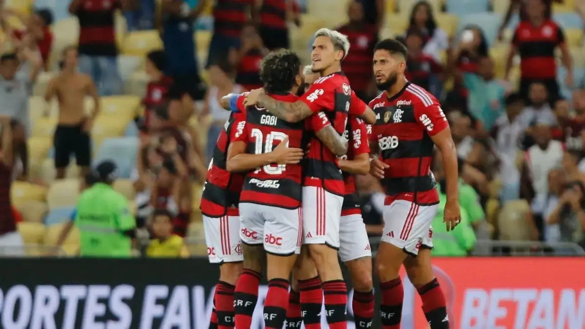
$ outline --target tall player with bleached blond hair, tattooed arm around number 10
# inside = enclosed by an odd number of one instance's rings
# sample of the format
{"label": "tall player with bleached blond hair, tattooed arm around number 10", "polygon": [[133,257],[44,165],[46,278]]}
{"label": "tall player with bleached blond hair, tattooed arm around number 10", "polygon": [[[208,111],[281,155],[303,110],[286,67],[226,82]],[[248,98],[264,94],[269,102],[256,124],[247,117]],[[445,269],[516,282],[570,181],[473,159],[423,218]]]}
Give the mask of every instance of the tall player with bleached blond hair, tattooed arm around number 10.
{"label": "tall player with bleached blond hair, tattooed arm around number 10", "polygon": [[[367,122],[375,122],[373,111],[363,102],[361,106],[350,106],[353,100],[349,80],[341,71],[341,61],[348,52],[347,36],[335,30],[318,30],[315,33],[311,57],[313,71],[319,72],[321,78],[315,81],[309,91],[296,102],[285,102],[269,97],[264,90],[252,90],[247,94],[245,104],[258,104],[278,119],[287,122],[299,122],[323,111],[339,134],[345,131],[348,114],[363,117]],[[355,111],[352,112],[352,109]],[[319,139],[311,139],[303,174],[303,244],[308,245],[322,283],[319,286],[319,279],[314,278],[311,285],[305,286],[305,289],[301,287],[301,290],[311,293],[322,288],[329,327],[346,328],[347,287],[337,256],[345,184],[337,157]],[[301,302],[301,307],[303,311],[309,312],[309,309],[313,309],[310,313],[318,314],[322,296],[311,294],[315,300]],[[303,321],[307,329],[319,326],[319,323],[307,318]]]}

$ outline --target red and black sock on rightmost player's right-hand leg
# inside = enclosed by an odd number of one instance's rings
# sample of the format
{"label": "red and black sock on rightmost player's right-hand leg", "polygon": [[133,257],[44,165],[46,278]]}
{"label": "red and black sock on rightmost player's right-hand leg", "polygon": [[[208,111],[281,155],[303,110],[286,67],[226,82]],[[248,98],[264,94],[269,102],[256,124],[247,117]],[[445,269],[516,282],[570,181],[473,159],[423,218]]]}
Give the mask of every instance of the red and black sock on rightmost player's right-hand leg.
{"label": "red and black sock on rightmost player's right-hand leg", "polygon": [[418,289],[422,300],[422,311],[431,329],[449,329],[449,317],[443,289],[435,278]]}

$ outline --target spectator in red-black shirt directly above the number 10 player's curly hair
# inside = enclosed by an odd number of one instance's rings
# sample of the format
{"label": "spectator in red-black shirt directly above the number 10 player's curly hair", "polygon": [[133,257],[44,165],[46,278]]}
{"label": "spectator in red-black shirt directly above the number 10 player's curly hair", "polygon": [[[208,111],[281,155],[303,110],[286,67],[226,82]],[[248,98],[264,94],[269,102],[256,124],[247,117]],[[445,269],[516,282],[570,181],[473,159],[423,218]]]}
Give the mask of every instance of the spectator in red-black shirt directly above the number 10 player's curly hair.
{"label": "spectator in red-black shirt directly above the number 10 player's curly hair", "polygon": [[262,88],[260,63],[268,50],[252,23],[245,25],[241,40],[242,46],[239,49],[229,50],[229,63],[236,67],[236,83],[241,84],[246,90]]}

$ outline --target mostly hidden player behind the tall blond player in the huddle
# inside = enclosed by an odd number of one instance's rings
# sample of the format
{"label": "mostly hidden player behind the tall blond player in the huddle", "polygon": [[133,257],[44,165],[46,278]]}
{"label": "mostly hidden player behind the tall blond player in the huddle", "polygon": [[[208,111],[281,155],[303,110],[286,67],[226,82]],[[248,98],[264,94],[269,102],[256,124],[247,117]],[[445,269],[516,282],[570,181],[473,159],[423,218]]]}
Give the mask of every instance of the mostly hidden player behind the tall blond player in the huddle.
{"label": "mostly hidden player behind the tall blond player in the huddle", "polygon": [[[319,78],[318,73],[312,71],[312,67],[305,66],[305,91],[311,88],[315,80]],[[355,93],[352,91],[352,97]],[[352,104],[354,104],[352,102]],[[347,155],[340,157],[339,167],[343,171],[345,180],[345,197],[343,198],[342,217],[340,220],[340,247],[339,258],[345,263],[352,276],[353,300],[352,309],[356,328],[370,328],[374,316],[374,294],[371,273],[371,250],[367,236],[366,225],[363,222],[359,208],[359,199],[355,193],[355,174],[367,174],[370,170],[367,129],[366,125],[359,118],[352,116],[347,121],[344,137],[350,140],[350,147]],[[305,280],[316,277],[315,265],[306,251],[301,252],[301,258],[297,261],[293,272],[293,281],[289,293],[289,307],[287,310],[287,328],[300,328],[302,318],[300,309],[300,293],[298,280]],[[318,277],[314,280],[315,285]],[[319,299],[320,290],[315,290],[315,299]],[[305,295],[305,294],[304,294]],[[307,296],[303,296],[307,299]],[[311,296],[309,296],[311,297]],[[308,310],[313,311],[313,309]],[[305,318],[319,319],[319,312],[307,313]],[[310,321],[310,320],[309,320]]]}

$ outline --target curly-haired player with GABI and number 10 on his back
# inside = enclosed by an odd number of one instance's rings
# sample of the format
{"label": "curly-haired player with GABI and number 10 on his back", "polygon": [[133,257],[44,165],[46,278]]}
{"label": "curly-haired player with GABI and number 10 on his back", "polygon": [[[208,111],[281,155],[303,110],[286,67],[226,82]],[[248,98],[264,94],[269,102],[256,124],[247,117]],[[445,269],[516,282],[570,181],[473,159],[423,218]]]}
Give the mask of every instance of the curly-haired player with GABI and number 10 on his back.
{"label": "curly-haired player with GABI and number 10 on his back", "polygon": [[[301,61],[289,50],[270,53],[262,61],[260,78],[271,97],[294,102],[303,80]],[[228,150],[228,170],[253,171],[246,174],[240,194],[240,238],[245,250],[244,272],[236,285],[236,328],[250,327],[266,258],[269,291],[264,320],[267,328],[280,329],[288,308],[288,278],[302,241],[302,166],[297,163],[311,136],[322,140],[336,155],[346,153],[347,140],[322,112],[290,123],[256,106],[239,104],[238,108],[246,113],[246,121],[236,124],[239,136]],[[264,153],[270,152],[275,141],[276,149],[287,145],[298,148],[291,149],[296,153],[291,153],[291,162],[285,166],[274,166],[270,154]]]}

